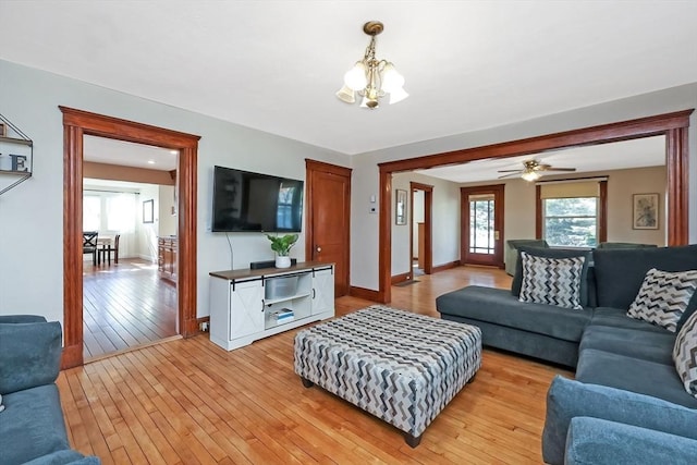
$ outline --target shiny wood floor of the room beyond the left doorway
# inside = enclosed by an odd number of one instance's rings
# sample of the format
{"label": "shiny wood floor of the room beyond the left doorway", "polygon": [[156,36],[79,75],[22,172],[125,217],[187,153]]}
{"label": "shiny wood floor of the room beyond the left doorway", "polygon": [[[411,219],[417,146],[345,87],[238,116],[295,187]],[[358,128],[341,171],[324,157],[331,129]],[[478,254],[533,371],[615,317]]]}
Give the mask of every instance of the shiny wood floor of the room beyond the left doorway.
{"label": "shiny wood floor of the room beyond the left doorway", "polygon": [[176,334],[176,287],[159,278],[155,264],[85,261],[83,295],[85,360]]}

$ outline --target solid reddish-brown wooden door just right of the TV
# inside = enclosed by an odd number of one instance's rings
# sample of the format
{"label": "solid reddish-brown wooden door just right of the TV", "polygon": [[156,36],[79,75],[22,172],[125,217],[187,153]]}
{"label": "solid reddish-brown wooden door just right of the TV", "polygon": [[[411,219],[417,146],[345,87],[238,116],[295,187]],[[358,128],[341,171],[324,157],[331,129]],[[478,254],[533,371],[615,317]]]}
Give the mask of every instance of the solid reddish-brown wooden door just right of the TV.
{"label": "solid reddish-brown wooden door just right of the TV", "polygon": [[307,233],[305,256],[334,264],[334,296],[348,294],[351,170],[306,160]]}

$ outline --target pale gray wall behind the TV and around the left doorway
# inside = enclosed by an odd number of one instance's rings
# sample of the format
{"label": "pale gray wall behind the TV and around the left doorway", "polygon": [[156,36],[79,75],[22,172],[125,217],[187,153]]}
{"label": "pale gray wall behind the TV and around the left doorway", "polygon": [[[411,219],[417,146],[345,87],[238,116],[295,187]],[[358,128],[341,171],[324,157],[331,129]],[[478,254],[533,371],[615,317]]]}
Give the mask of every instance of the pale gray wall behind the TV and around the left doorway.
{"label": "pale gray wall behind the TV and around the left doorway", "polygon": [[[0,315],[38,314],[63,320],[63,125],[58,106],[201,136],[196,220],[199,317],[209,314],[208,272],[231,268],[224,234],[209,232],[212,167],[304,180],[305,158],[351,162],[331,150],[2,60],[0,76],[0,111],[34,140],[34,175],[0,196]],[[273,258],[261,234],[230,237],[235,268]],[[304,248],[295,247],[292,255],[304,259]]]}

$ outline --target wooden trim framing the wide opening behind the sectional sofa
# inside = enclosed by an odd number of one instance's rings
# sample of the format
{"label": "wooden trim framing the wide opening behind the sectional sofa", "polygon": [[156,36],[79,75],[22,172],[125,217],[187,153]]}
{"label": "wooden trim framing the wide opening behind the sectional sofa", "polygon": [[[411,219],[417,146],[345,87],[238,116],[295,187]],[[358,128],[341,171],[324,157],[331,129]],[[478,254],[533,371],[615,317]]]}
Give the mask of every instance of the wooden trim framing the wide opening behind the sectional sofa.
{"label": "wooden trim framing the wide opening behind the sectional sofa", "polygon": [[687,135],[689,115],[695,109],[639,118],[619,123],[602,124],[574,131],[453,150],[405,160],[378,163],[380,172],[380,219],[378,236],[378,293],[380,302],[391,301],[392,237],[390,206],[392,205],[392,173],[423,170],[444,164],[464,163],[485,158],[508,158],[545,150],[608,144],[650,136],[665,136],[668,170],[668,244],[688,242],[688,172]]}

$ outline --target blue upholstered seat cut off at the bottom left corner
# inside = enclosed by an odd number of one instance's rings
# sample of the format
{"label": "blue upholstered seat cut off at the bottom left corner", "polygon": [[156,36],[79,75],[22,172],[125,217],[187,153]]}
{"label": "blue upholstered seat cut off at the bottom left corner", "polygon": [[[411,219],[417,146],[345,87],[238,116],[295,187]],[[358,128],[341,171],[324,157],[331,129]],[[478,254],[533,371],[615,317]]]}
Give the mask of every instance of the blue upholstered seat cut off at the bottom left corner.
{"label": "blue upholstered seat cut off at the bottom left corner", "polygon": [[58,321],[0,316],[0,463],[96,465],[70,448],[56,386],[62,352]]}

